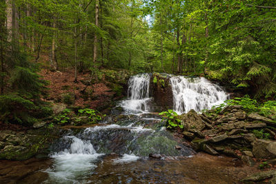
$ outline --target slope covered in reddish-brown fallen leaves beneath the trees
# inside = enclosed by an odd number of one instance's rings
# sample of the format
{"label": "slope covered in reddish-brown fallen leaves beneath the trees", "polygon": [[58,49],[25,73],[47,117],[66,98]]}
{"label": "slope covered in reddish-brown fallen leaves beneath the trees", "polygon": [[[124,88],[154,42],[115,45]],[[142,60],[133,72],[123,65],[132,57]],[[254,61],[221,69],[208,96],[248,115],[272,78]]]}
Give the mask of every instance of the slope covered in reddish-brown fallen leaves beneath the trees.
{"label": "slope covered in reddish-brown fallen leaves beneath the trees", "polygon": [[[86,88],[86,85],[81,81],[89,81],[90,72],[79,73],[77,83],[74,82],[75,72],[72,69],[63,72],[51,72],[44,69],[40,74],[43,76],[43,79],[50,82],[47,85],[47,88],[49,88],[47,100],[59,101],[61,94],[71,93],[75,94],[75,106],[95,109],[106,101],[106,96],[111,97],[115,94],[106,86],[104,81],[95,83],[92,86],[89,85]],[[84,88],[86,88],[86,93],[88,94],[86,98],[81,93]]]}

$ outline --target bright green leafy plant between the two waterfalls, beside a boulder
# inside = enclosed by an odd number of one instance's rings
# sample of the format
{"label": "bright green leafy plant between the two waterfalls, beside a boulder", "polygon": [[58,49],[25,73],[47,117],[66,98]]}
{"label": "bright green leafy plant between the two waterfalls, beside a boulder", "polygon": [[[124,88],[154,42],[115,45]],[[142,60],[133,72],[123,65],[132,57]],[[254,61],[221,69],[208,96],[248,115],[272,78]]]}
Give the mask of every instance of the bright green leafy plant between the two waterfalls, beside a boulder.
{"label": "bright green leafy plant between the two waterfalls, beside a boulder", "polygon": [[180,119],[177,119],[178,114],[173,110],[168,110],[165,112],[160,112],[159,115],[164,115],[163,119],[167,122],[167,127],[170,129],[179,127],[183,129]]}

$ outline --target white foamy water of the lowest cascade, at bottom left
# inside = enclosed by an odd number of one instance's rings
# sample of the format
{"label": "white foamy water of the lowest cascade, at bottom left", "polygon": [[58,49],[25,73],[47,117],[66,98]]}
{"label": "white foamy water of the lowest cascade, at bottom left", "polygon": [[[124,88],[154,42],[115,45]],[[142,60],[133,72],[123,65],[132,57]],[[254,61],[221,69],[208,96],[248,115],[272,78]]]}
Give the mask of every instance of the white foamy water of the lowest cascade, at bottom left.
{"label": "white foamy water of the lowest cascade, at bottom left", "polygon": [[70,149],[51,156],[55,163],[46,170],[49,174],[46,183],[86,183],[86,174],[97,167],[94,162],[102,154],[97,154],[88,141],[81,141],[75,136],[65,138],[72,140]]}

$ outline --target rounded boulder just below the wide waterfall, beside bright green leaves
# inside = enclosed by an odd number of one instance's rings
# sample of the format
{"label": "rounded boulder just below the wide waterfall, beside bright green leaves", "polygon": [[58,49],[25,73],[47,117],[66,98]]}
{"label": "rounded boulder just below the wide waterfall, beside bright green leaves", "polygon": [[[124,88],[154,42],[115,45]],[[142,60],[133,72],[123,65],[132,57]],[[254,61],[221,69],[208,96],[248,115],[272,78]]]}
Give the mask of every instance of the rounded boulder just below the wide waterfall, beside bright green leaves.
{"label": "rounded boulder just below the wide waterfall, beside bright green leaves", "polygon": [[184,130],[204,130],[205,123],[195,110],[190,110],[187,114],[182,114],[179,116],[179,119],[181,119],[181,125],[184,126]]}

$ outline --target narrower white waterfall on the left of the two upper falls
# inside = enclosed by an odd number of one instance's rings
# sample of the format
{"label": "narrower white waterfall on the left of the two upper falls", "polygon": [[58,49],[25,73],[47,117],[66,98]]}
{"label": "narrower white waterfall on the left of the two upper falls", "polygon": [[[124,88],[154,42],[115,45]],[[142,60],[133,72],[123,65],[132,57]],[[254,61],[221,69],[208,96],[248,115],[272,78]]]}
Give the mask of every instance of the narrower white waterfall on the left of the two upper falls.
{"label": "narrower white waterfall on the left of the two upper falls", "polygon": [[127,111],[148,112],[150,101],[150,74],[138,74],[128,81],[128,99],[120,106]]}

